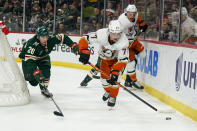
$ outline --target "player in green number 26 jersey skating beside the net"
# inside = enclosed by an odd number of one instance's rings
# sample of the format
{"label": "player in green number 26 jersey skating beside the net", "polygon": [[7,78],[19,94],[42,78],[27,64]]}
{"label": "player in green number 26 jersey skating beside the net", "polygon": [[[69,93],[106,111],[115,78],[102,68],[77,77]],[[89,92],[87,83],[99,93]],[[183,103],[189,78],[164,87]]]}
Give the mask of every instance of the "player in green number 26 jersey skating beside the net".
{"label": "player in green number 26 jersey skating beside the net", "polygon": [[49,35],[45,27],[39,27],[36,35],[24,43],[19,58],[22,59],[22,70],[26,81],[32,86],[39,84],[42,95],[52,96],[48,91],[49,80],[51,76],[51,61],[49,54],[56,44],[66,44],[71,47],[75,54],[79,54],[79,61],[87,64],[90,51],[83,49],[73,42],[67,35]]}

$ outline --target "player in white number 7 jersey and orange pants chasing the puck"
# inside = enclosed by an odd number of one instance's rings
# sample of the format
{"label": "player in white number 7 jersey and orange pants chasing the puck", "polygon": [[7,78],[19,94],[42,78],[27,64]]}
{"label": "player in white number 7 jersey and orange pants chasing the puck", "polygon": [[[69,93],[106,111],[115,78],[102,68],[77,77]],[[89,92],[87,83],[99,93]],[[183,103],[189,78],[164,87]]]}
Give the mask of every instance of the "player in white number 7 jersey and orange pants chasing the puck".
{"label": "player in white number 7 jersey and orange pants chasing the puck", "polygon": [[[111,76],[111,79],[107,79],[106,76],[101,74],[101,82],[105,90],[103,101],[108,100],[107,105],[113,107],[119,92],[119,86],[115,84],[115,81],[118,81],[128,63],[129,41],[125,33],[121,31],[118,20],[112,20],[108,28],[90,33],[87,39],[90,44],[99,44],[100,69]],[[79,44],[85,45],[88,44],[88,41],[82,38]]]}

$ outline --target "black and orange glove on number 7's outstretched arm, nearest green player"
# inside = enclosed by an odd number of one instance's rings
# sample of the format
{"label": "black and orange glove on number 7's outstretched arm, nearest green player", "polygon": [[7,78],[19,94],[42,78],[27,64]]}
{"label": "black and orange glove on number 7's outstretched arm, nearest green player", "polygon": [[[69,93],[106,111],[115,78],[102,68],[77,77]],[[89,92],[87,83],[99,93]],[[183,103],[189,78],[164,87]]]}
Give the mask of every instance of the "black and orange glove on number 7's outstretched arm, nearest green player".
{"label": "black and orange glove on number 7's outstretched arm, nearest green player", "polygon": [[90,59],[90,50],[82,49],[79,55],[79,61],[83,64],[88,64],[88,61]]}

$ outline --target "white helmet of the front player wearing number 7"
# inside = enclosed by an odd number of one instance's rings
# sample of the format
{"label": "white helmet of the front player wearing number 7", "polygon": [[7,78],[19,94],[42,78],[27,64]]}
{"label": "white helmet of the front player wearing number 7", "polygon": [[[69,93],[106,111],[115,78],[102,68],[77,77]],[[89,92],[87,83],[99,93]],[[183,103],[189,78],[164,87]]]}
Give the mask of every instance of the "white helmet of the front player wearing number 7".
{"label": "white helmet of the front player wearing number 7", "polygon": [[118,20],[110,21],[108,29],[109,29],[110,33],[121,33],[122,32],[120,22]]}

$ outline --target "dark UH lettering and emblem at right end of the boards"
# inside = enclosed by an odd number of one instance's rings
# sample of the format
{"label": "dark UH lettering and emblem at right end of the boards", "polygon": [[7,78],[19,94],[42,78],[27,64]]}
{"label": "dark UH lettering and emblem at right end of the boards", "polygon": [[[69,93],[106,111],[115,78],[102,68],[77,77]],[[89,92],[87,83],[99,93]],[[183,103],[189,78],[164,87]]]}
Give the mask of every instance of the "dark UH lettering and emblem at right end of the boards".
{"label": "dark UH lettering and emblem at right end of the boards", "polygon": [[183,61],[183,53],[182,53],[176,61],[176,73],[175,73],[176,91],[180,90],[181,83],[183,83],[185,87],[189,87],[195,90],[196,72],[197,72],[197,63],[193,63],[186,60]]}

